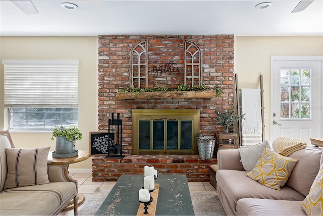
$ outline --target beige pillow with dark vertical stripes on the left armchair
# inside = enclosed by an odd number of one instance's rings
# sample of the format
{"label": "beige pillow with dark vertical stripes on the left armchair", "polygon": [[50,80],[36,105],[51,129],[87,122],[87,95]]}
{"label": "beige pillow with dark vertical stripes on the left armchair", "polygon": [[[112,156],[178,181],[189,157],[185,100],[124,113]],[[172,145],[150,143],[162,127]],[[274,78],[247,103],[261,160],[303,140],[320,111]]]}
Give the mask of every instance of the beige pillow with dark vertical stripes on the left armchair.
{"label": "beige pillow with dark vertical stripes on the left armchair", "polygon": [[49,148],[48,146],[6,149],[8,171],[5,189],[48,184],[47,157]]}

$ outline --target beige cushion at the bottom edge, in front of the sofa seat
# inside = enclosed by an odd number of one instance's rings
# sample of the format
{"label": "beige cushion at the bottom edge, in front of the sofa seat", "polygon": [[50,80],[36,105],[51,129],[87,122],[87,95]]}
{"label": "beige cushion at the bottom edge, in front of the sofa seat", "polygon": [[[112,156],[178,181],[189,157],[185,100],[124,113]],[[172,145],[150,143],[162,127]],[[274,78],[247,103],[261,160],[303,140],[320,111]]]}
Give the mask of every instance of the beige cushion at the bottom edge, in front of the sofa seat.
{"label": "beige cushion at the bottom edge, in front of the sofa seat", "polygon": [[302,201],[272,199],[239,199],[237,215],[306,215]]}

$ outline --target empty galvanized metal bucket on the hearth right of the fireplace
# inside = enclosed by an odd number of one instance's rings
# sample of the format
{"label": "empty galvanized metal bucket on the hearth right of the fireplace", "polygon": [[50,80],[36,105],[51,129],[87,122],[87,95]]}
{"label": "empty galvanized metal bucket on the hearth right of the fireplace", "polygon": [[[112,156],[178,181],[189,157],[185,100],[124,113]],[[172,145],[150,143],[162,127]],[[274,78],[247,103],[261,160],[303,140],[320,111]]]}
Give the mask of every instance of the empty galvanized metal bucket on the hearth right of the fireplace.
{"label": "empty galvanized metal bucket on the hearth right of the fireplace", "polygon": [[201,160],[211,160],[213,157],[216,138],[211,136],[196,137],[198,154]]}

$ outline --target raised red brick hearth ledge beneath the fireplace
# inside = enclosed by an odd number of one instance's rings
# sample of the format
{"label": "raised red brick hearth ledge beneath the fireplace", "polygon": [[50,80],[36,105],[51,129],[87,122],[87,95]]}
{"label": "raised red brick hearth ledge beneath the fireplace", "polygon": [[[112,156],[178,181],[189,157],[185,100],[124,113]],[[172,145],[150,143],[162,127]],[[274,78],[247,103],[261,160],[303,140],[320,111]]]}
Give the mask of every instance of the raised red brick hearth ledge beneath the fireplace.
{"label": "raised red brick hearth ledge beneath the fireplace", "polygon": [[189,182],[208,182],[209,166],[217,159],[201,160],[198,155],[125,155],[123,159],[96,156],[92,159],[93,181],[117,181],[123,174],[143,174],[153,166],[158,175],[185,174]]}

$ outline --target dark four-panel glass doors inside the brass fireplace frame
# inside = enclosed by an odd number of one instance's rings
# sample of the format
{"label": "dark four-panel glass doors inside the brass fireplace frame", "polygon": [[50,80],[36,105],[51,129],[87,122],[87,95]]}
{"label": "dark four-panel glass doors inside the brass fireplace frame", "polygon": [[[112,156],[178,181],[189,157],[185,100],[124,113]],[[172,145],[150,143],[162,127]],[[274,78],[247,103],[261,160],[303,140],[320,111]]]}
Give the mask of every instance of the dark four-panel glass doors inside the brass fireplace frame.
{"label": "dark four-panel glass doors inside the brass fireplace frame", "polygon": [[193,120],[139,120],[139,150],[193,149]]}

